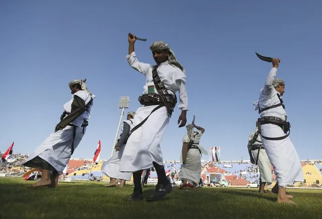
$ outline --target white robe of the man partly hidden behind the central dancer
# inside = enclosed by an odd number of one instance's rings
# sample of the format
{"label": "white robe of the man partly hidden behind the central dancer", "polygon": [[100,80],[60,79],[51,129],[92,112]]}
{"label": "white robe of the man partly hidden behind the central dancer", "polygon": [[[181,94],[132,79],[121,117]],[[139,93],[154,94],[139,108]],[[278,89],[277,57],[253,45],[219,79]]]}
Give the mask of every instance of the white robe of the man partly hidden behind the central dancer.
{"label": "white robe of the man partly hidden behind the central dancer", "polygon": [[[131,119],[133,121],[133,119]],[[129,120],[124,120],[123,122],[126,122],[128,125],[130,125],[130,132],[132,128],[134,127],[133,124]],[[123,124],[121,126],[121,132],[123,132]],[[120,151],[116,151],[114,149],[113,156],[106,162],[102,164],[102,172],[110,177],[110,178],[115,178],[115,179],[123,179],[126,181],[131,180],[132,173],[126,173],[126,172],[120,172],[119,171],[119,165],[121,162],[121,158],[124,152],[124,149],[126,147],[126,144],[121,145]]]}

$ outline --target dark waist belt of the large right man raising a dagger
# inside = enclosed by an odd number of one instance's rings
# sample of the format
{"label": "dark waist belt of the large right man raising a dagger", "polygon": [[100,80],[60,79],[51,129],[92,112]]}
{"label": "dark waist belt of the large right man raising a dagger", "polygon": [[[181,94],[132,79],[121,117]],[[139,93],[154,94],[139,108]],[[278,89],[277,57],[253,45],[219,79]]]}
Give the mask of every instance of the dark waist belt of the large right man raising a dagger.
{"label": "dark waist belt of the large right man raising a dagger", "polygon": [[[264,125],[264,124],[274,124],[274,125],[277,125],[279,127],[282,128],[282,130],[284,131],[284,133],[287,134],[284,135],[284,136],[281,136],[281,137],[266,137],[266,136],[263,136],[262,133],[261,133],[261,125]],[[273,116],[264,116],[263,118],[259,118],[258,119],[258,126],[259,126],[259,130],[260,130],[260,133],[261,133],[261,136],[267,140],[282,140],[282,139],[285,139],[287,138],[289,135],[290,135],[290,128],[291,128],[291,125],[289,122],[286,122],[285,120],[283,119],[280,119],[280,118],[277,118],[277,117],[273,117]]]}

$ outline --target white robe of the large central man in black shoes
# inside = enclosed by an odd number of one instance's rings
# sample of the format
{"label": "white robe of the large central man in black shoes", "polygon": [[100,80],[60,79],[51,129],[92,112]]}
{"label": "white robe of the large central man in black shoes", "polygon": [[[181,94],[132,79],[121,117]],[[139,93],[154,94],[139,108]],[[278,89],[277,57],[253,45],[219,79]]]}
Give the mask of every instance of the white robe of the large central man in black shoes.
{"label": "white robe of the large central man in black shoes", "polygon": [[[154,86],[152,80],[152,64],[139,62],[136,53],[127,55],[126,59],[131,67],[140,71],[146,77],[143,93],[148,93],[148,87]],[[168,61],[161,63],[158,67],[158,75],[164,83],[169,94],[173,95],[179,91],[179,109],[188,110],[187,94],[185,90],[186,76],[180,68],[172,66]],[[155,93],[157,91],[155,90]],[[157,106],[141,106],[137,110],[133,125],[136,126],[143,121]],[[126,147],[121,158],[121,172],[136,172],[151,168],[152,162],[163,165],[163,157],[160,142],[169,123],[166,107],[153,112],[148,120],[128,138]]]}

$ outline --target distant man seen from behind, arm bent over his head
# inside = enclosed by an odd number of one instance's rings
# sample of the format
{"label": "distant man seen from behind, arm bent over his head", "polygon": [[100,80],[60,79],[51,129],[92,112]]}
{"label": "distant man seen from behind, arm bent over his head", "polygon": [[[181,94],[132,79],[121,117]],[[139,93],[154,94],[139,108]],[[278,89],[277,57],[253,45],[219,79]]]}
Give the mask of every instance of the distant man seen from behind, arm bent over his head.
{"label": "distant man seen from behind, arm bent over his head", "polygon": [[[197,131],[194,131],[197,128]],[[194,190],[196,189],[200,177],[201,177],[201,155],[202,153],[208,154],[208,152],[199,144],[201,136],[205,132],[203,127],[197,126],[195,124],[187,125],[187,133],[182,139],[182,152],[180,161],[182,165],[180,167],[180,172],[178,173],[178,178],[182,181],[180,188],[186,186],[186,183],[194,185]]]}

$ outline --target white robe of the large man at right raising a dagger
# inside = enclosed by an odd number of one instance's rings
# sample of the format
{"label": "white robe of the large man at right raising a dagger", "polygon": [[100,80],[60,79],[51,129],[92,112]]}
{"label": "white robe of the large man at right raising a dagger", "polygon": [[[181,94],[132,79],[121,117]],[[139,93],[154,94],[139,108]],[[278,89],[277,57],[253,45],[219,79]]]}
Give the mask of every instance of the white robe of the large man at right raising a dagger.
{"label": "white robe of the large man at right raising a dagger", "polygon": [[[277,68],[273,67],[268,74],[264,88],[260,91],[260,109],[280,103],[277,96],[278,92],[273,87],[276,72]],[[286,111],[282,106],[266,110],[260,116],[273,116],[287,120]],[[285,135],[282,128],[274,124],[261,125],[261,131],[262,135],[266,137]],[[294,182],[304,181],[300,159],[289,136],[282,140],[267,140],[262,137],[262,142],[273,165],[279,186],[286,187],[286,185],[292,185]]]}

